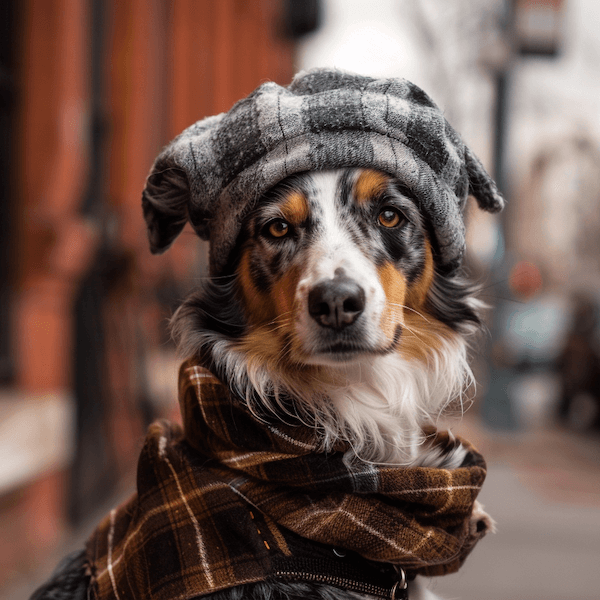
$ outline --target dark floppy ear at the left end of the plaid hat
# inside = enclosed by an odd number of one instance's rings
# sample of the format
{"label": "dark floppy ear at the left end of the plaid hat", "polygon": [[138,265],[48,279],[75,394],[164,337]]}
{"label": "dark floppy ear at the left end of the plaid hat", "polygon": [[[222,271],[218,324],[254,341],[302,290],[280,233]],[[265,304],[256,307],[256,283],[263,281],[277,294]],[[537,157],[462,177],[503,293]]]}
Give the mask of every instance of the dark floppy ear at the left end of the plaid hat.
{"label": "dark floppy ear at the left end of the plaid hat", "polygon": [[142,193],[142,209],[152,254],[162,254],[189,219],[190,186],[186,172],[166,160],[157,161]]}

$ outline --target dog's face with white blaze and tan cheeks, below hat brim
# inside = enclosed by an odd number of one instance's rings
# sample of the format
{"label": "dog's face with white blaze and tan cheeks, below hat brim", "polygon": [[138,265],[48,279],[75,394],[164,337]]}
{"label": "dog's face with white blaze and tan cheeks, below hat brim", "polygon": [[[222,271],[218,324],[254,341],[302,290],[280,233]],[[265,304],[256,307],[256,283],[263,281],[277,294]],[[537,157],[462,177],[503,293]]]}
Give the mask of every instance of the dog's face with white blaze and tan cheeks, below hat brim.
{"label": "dog's face with white blaze and tan cheeks, below hat brim", "polygon": [[248,352],[339,365],[426,359],[452,330],[432,311],[432,247],[406,189],[378,171],[292,176],[246,220],[237,281]]}

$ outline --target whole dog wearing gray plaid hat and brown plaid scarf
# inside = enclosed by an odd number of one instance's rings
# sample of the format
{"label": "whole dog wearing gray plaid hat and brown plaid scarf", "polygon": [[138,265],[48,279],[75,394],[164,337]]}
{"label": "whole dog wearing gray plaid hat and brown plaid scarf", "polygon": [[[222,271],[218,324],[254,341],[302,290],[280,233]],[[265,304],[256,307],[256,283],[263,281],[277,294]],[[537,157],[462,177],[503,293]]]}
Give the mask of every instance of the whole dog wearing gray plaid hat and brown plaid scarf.
{"label": "whole dog wearing gray plaid hat and brown plaid scarf", "polygon": [[[433,598],[418,575],[493,528],[483,459],[435,432],[467,403],[482,325],[460,268],[469,193],[502,207],[405,80],[303,73],[176,138],[143,207],[153,252],[188,222],[210,242],[171,322],[193,357],[184,430],[155,427],[137,496],[54,581],[119,600]],[[74,597],[49,589],[36,599]]]}

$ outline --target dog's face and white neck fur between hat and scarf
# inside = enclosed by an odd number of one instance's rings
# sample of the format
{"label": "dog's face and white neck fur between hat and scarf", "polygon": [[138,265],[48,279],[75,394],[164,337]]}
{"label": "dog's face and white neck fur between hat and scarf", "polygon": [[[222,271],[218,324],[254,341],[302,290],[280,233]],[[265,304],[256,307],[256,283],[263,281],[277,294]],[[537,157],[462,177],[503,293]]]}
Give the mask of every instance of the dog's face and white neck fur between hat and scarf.
{"label": "dog's face and white neck fur between hat and scarf", "polygon": [[323,450],[346,442],[348,464],[458,467],[466,451],[431,449],[422,427],[464,405],[482,305],[435,253],[393,178],[294,175],[247,216],[227,271],[182,304],[173,333],[258,416],[301,419]]}

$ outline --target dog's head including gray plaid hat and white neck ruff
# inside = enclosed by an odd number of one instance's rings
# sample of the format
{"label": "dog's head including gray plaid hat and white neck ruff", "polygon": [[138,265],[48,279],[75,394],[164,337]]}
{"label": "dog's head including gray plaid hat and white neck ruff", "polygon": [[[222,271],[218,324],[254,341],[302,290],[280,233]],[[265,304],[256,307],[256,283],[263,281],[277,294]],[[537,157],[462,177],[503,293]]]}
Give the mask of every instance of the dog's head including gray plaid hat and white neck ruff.
{"label": "dog's head including gray plaid hat and white neck ruff", "polygon": [[319,71],[262,86],[174,140],[144,191],[153,251],[187,221],[210,241],[212,278],[173,320],[183,352],[251,405],[296,398],[325,447],[389,459],[398,420],[415,431],[469,375],[469,193],[502,205],[409,82]]}

